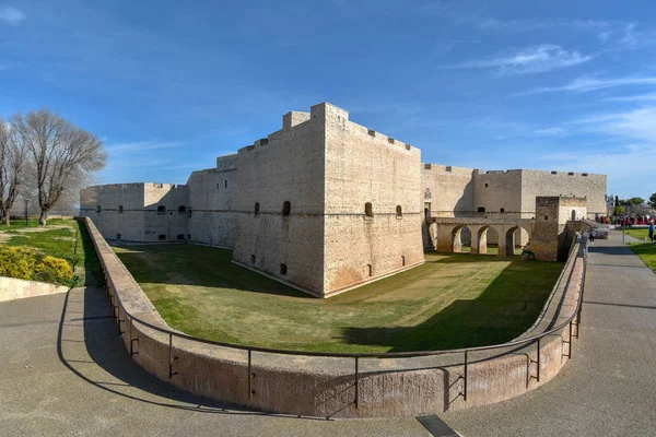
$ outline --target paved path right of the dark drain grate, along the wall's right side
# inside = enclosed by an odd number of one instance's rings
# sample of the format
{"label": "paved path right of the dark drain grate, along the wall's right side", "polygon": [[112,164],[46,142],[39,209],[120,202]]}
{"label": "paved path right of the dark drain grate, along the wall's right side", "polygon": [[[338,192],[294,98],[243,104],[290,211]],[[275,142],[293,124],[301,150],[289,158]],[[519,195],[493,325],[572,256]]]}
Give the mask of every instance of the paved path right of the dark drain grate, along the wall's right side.
{"label": "paved path right of the dark drain grate, along the wall's right side", "polygon": [[656,274],[621,233],[590,246],[581,339],[553,380],[444,420],[464,436],[656,435]]}

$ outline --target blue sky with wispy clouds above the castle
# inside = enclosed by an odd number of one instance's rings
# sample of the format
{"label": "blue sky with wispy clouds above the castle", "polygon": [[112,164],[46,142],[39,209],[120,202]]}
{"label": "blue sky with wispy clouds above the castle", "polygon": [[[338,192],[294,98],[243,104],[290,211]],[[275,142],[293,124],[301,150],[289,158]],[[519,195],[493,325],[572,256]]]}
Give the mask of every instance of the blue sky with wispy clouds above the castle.
{"label": "blue sky with wispy clouds above the castle", "polygon": [[656,192],[656,2],[0,0],[0,116],[103,138],[99,184],[184,184],[330,102],[483,169]]}

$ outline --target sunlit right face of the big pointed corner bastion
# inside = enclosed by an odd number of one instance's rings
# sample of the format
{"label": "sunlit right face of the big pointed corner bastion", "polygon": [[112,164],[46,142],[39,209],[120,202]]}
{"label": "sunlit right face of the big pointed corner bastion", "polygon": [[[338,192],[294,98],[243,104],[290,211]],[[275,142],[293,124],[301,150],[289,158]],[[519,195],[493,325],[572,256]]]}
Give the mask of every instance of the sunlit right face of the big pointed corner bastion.
{"label": "sunlit right face of the big pointed corner bastion", "polygon": [[326,294],[422,263],[421,152],[332,105],[315,113],[326,119]]}

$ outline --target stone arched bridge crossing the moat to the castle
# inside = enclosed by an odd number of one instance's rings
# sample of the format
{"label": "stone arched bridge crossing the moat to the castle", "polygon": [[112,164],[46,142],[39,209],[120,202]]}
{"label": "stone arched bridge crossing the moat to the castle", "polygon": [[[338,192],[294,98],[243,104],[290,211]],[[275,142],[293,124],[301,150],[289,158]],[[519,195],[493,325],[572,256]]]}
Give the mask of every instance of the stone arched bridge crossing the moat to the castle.
{"label": "stone arched bridge crossing the moat to the castle", "polygon": [[[462,240],[460,237],[462,229],[467,227],[471,233],[471,253],[487,253],[488,243],[490,243],[491,245],[497,245],[500,257],[515,255],[515,246],[520,243],[520,240],[516,239],[517,231],[525,231],[528,234],[528,240],[530,240],[534,224],[535,218],[512,218],[504,216],[426,217],[431,245],[437,251],[461,251]],[[522,234],[519,233],[519,235]]]}

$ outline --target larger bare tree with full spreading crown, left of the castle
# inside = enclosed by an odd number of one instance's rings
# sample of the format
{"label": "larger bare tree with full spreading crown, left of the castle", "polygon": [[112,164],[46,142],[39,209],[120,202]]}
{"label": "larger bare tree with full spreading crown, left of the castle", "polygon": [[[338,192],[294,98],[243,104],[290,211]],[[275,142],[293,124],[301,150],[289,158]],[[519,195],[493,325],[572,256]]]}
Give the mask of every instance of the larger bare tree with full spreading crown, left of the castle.
{"label": "larger bare tree with full spreading crown, left of the castle", "polygon": [[16,114],[12,123],[33,161],[39,224],[45,225],[52,205],[67,191],[78,191],[95,172],[105,167],[107,153],[94,134],[75,127],[48,109]]}

